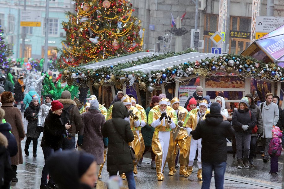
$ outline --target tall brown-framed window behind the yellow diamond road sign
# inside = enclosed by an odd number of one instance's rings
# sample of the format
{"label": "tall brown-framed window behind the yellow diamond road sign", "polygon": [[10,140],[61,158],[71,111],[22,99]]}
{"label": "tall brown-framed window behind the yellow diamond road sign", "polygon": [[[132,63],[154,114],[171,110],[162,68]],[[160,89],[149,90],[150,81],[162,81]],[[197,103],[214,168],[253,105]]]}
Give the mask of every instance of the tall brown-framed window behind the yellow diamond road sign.
{"label": "tall brown-framed window behind the yellow diamond road sign", "polygon": [[204,40],[204,52],[211,52],[211,47],[216,47],[216,45],[212,42],[210,37],[218,31],[218,15],[212,14],[205,14],[204,18],[204,33],[203,33],[203,40]]}

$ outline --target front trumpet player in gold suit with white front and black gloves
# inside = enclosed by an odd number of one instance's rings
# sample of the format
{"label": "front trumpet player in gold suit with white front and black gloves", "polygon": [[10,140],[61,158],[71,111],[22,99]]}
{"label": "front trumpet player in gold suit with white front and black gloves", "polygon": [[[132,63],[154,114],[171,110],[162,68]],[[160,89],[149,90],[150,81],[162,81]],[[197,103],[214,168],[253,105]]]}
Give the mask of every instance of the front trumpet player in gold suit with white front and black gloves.
{"label": "front trumpet player in gold suit with white front and black gloves", "polygon": [[155,128],[152,138],[152,150],[156,155],[156,172],[159,181],[165,179],[163,170],[174,150],[171,131],[177,124],[177,115],[174,109],[167,104],[167,99],[162,98],[159,105],[152,108],[148,114],[148,123]]}

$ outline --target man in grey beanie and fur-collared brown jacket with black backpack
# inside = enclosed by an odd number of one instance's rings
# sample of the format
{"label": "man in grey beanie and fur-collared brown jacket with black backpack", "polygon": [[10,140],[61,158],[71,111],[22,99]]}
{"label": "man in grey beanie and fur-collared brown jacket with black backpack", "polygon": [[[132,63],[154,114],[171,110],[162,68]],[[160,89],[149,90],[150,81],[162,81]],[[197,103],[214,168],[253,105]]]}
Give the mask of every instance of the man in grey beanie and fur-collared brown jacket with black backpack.
{"label": "man in grey beanie and fur-collared brown jacket with black backpack", "polygon": [[64,125],[68,122],[71,124],[68,132],[72,136],[71,138],[63,138],[62,150],[74,150],[75,134],[79,133],[81,130],[83,121],[75,101],[71,100],[71,93],[68,90],[65,90],[61,93],[61,99],[58,99],[58,101],[63,104],[61,120]]}

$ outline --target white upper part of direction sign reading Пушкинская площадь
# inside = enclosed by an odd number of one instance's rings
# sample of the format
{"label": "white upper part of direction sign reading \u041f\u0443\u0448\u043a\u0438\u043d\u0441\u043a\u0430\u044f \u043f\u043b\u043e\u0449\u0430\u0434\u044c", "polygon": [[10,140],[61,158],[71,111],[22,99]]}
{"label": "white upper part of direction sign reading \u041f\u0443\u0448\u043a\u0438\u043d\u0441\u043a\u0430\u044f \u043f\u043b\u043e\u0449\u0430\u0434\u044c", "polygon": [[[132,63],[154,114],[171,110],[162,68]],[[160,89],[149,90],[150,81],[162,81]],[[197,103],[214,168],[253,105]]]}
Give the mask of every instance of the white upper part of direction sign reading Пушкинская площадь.
{"label": "white upper part of direction sign reading \u041f\u0443\u0448\u043a\u0438\u043d\u0441\u043a\u0430\u044f \u043f\u043b\u043e\u0449\u0430\u0434\u044c", "polygon": [[255,31],[269,33],[284,24],[284,17],[256,16]]}

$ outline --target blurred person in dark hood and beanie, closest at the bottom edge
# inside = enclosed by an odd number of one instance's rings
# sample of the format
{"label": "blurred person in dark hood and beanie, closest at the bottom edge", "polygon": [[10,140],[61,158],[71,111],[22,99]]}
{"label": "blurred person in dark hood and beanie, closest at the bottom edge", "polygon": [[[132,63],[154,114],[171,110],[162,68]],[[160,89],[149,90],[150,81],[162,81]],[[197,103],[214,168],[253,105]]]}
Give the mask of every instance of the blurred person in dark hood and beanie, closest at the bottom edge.
{"label": "blurred person in dark hood and beanie, closest at the bottom edge", "polygon": [[92,189],[97,181],[96,158],[86,152],[56,152],[46,164],[59,189]]}

